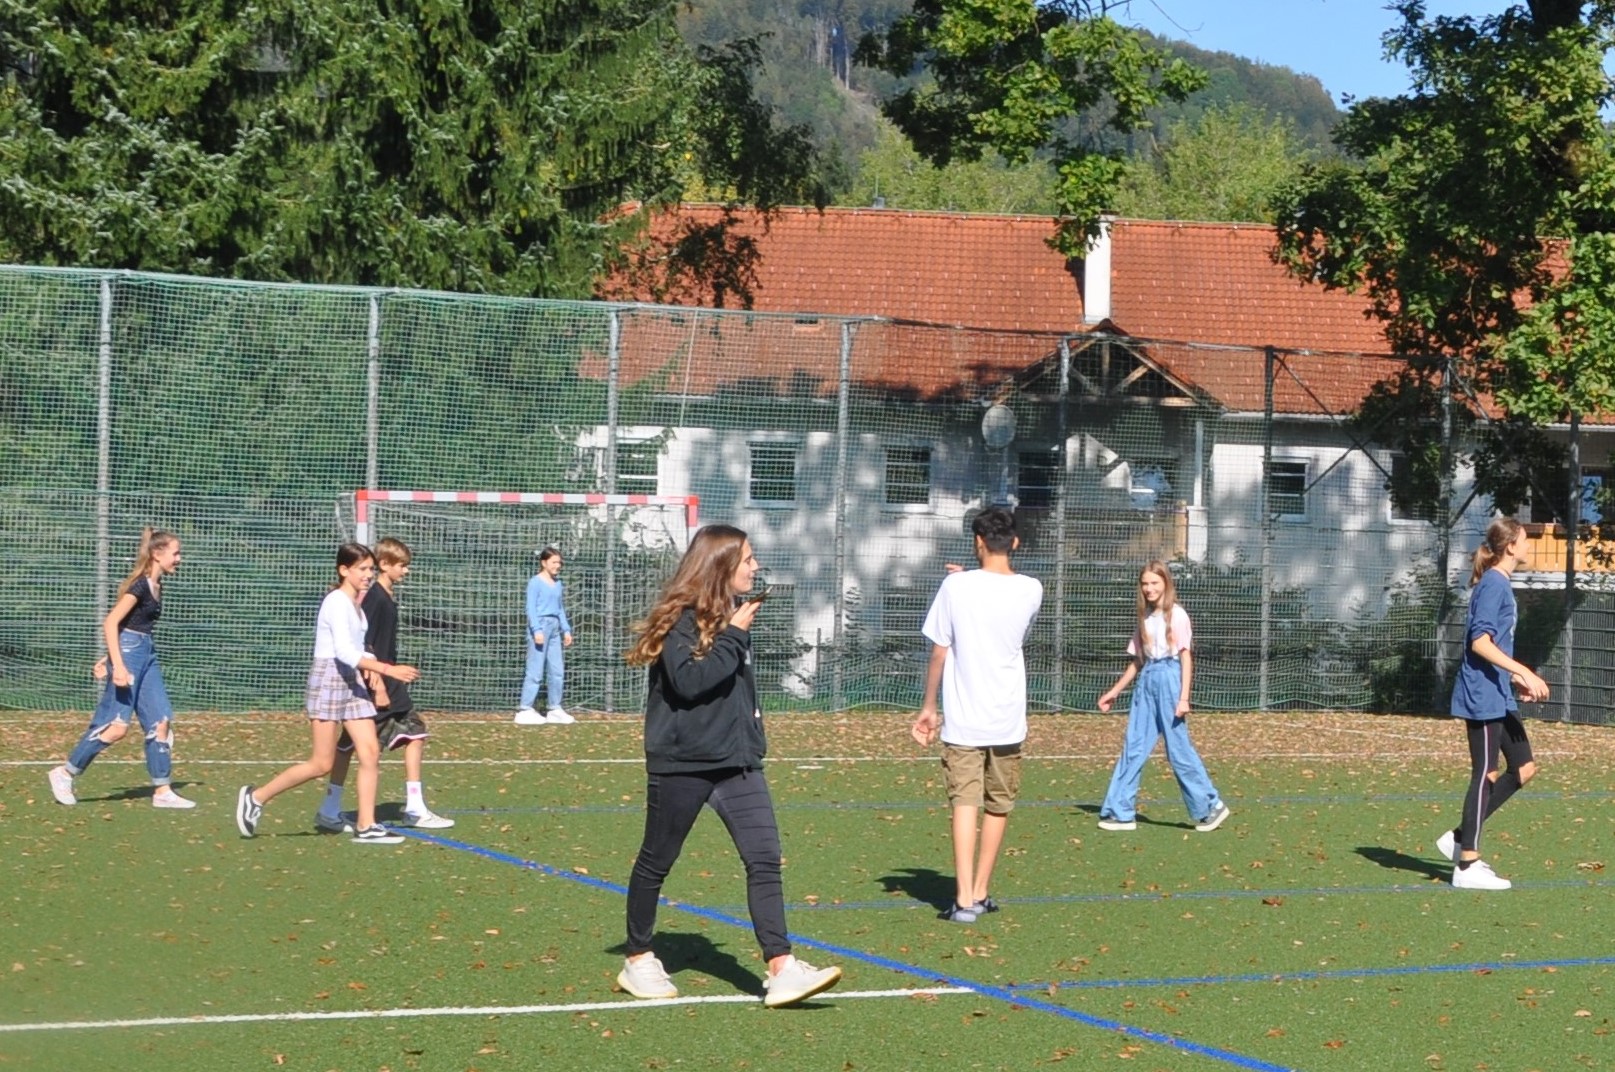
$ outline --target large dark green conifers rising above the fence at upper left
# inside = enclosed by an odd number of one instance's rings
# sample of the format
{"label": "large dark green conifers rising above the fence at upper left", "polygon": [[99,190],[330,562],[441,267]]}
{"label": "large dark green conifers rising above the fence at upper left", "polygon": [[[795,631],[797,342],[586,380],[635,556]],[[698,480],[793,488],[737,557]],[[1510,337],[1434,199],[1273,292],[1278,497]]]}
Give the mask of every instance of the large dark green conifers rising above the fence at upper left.
{"label": "large dark green conifers rising above the fence at upper left", "polygon": [[[625,200],[749,181],[754,139],[712,134],[732,69],[673,10],[10,0],[0,257],[586,295],[643,223]],[[804,178],[793,145],[761,160]]]}

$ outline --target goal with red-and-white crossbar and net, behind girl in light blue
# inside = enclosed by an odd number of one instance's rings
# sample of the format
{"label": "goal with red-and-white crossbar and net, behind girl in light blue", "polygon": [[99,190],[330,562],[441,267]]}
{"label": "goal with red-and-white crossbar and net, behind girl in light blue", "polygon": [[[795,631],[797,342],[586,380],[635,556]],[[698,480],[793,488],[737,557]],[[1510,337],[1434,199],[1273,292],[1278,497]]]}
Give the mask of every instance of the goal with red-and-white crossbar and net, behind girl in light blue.
{"label": "goal with red-and-white crossbar and net, behind girl in light blue", "polygon": [[[694,496],[357,491],[349,531],[409,544],[399,586],[399,655],[433,710],[514,714],[526,660],[526,581],[560,552],[573,644],[564,706],[638,710],[644,673],[622,652],[696,526]],[[543,691],[539,701],[544,699]]]}

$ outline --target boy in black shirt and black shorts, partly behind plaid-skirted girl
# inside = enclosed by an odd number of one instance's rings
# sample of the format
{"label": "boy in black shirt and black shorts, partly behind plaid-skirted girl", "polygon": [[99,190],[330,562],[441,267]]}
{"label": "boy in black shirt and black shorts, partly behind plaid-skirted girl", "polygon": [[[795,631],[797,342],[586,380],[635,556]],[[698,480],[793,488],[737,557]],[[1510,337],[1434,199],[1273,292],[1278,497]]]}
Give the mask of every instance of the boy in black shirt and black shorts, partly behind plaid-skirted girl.
{"label": "boy in black shirt and black shorts, partly behind plaid-skirted girl", "polygon": [[[376,583],[365,593],[362,610],[365,651],[383,662],[397,662],[399,657],[399,605],[392,599],[392,588],[409,576],[409,563],[410,551],[402,539],[388,536],[376,544]],[[430,735],[426,723],[415,714],[409,686],[402,681],[386,681],[380,675],[367,675],[367,685],[376,701],[376,738],[381,747],[404,749],[404,822],[417,830],[447,830],[454,820],[434,815],[422,793],[420,760]],[[347,780],[350,756],[352,744],[344,731],[336,747],[336,762],[331,764],[331,783],[313,817],[320,830],[333,833],[352,830],[352,812],[342,812],[342,783]]]}

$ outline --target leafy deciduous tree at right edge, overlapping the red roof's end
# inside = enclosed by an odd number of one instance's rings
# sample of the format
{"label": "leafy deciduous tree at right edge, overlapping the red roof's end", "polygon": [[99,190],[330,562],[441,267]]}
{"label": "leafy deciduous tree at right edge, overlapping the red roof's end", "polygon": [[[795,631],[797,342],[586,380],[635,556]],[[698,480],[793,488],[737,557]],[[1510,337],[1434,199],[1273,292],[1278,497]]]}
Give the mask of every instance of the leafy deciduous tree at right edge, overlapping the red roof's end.
{"label": "leafy deciduous tree at right edge, overlapping the red roof's end", "polygon": [[[1487,394],[1502,407],[1508,420],[1484,425],[1476,483],[1505,512],[1526,488],[1563,499],[1546,491],[1563,449],[1542,423],[1615,404],[1615,144],[1600,119],[1612,8],[1534,0],[1428,19],[1402,0],[1386,47],[1412,92],[1352,105],[1336,129],[1347,158],[1307,168],[1281,199],[1284,263],[1361,289],[1392,347],[1424,358],[1405,392],[1379,399],[1405,404],[1384,441],[1428,457],[1433,399],[1478,418]],[[1449,363],[1470,392],[1454,389]]]}

